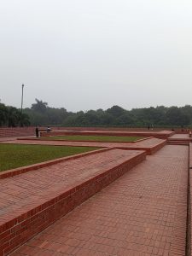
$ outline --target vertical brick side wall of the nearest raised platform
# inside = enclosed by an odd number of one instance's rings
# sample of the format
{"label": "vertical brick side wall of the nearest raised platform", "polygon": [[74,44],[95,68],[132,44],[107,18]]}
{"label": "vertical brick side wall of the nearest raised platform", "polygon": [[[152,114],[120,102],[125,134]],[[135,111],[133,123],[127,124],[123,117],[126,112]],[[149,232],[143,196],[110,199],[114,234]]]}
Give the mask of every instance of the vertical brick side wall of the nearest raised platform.
{"label": "vertical brick side wall of the nearest raised platform", "polygon": [[2,242],[0,254],[7,255],[15,251],[23,243],[36,236],[57,219],[65,216],[145,159],[145,151],[137,152],[136,155],[130,156],[129,160],[125,160],[118,166],[113,166],[95,177],[90,177],[83,183],[76,185],[76,187],[68,189],[52,199],[49,198],[38,207],[21,213],[16,218],[2,224],[0,226],[0,240]]}

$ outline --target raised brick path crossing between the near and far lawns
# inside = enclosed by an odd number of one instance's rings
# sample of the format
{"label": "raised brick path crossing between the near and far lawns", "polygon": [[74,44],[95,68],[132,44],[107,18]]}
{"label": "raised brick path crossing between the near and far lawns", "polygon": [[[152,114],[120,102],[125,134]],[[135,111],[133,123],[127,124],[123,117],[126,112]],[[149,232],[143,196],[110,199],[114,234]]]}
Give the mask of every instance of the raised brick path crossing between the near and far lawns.
{"label": "raised brick path crossing between the near and far lawns", "polygon": [[66,141],[41,141],[41,140],[13,140],[6,143],[19,144],[41,144],[41,145],[57,145],[57,146],[83,146],[83,147],[100,147],[100,148],[122,148],[145,150],[147,154],[154,154],[157,150],[166,144],[166,140],[158,138],[149,138],[138,143],[98,143],[98,142],[66,142]]}

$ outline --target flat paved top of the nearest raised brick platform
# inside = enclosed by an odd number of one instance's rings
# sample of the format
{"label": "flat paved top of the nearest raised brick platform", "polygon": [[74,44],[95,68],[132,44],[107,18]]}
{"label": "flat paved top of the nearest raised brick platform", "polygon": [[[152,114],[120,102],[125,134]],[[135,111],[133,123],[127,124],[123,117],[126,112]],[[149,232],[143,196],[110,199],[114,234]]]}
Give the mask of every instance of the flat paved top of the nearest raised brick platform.
{"label": "flat paved top of the nearest raised brick platform", "polygon": [[0,224],[119,166],[137,151],[113,149],[0,180]]}

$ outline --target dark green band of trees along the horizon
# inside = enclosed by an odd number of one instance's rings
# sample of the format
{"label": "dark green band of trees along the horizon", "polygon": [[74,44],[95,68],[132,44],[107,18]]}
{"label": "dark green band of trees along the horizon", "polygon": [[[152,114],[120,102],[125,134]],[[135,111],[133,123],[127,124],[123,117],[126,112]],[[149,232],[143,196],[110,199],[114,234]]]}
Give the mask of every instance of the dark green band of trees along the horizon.
{"label": "dark green band of trees along the horizon", "polygon": [[107,110],[67,112],[66,108],[50,108],[47,102],[36,99],[31,108],[5,106],[0,103],[0,125],[49,125],[49,126],[190,126],[192,125],[192,106],[156,108],[132,108],[125,110],[113,106]]}

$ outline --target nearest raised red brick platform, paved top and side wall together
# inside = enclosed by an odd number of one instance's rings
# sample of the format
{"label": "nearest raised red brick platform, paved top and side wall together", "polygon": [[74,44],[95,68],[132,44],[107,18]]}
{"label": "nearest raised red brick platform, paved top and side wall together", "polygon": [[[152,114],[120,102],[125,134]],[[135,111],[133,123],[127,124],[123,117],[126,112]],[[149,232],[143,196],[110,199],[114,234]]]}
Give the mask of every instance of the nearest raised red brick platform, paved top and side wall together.
{"label": "nearest raised red brick platform, paved top and side wall together", "polygon": [[146,158],[111,149],[0,180],[0,255],[7,255]]}

